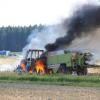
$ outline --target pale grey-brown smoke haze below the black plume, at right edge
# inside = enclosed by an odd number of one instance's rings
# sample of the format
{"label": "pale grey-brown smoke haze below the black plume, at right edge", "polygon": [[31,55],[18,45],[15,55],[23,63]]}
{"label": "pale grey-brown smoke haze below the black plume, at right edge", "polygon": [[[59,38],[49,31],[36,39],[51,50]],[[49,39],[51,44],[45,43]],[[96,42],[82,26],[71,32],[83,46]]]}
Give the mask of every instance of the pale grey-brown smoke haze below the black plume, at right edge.
{"label": "pale grey-brown smoke haze below the black plume, at right edge", "polygon": [[91,52],[92,58],[89,64],[100,65],[100,28],[92,31],[86,37],[76,38],[72,45],[69,46],[71,50],[78,50],[82,52]]}

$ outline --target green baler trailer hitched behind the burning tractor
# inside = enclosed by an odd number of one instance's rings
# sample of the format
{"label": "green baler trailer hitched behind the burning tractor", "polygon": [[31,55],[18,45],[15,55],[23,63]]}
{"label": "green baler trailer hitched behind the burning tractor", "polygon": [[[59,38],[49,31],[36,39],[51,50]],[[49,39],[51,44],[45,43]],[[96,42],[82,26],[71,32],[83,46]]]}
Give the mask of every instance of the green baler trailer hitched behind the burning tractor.
{"label": "green baler trailer hitched behind the burning tractor", "polygon": [[70,51],[55,51],[47,54],[47,67],[53,72],[87,74],[87,54]]}

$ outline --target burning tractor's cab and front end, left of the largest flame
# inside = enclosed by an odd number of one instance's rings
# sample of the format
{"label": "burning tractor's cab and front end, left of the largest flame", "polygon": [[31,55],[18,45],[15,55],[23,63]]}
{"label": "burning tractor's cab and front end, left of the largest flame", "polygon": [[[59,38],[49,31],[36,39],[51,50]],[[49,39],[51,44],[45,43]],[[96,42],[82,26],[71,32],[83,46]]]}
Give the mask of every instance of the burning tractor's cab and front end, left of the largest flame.
{"label": "burning tractor's cab and front end, left of the largest flame", "polygon": [[43,50],[29,49],[26,52],[25,58],[18,65],[18,68],[21,68],[22,72],[33,73],[36,71],[36,62],[40,59],[43,52]]}

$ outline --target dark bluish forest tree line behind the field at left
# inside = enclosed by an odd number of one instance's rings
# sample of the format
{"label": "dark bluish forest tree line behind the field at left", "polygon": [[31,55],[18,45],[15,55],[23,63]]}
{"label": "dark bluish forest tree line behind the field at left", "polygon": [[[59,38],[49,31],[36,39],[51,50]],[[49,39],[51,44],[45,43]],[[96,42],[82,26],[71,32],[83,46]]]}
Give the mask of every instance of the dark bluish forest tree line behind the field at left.
{"label": "dark bluish forest tree line behind the field at left", "polygon": [[0,27],[0,50],[22,51],[27,38],[35,29],[41,30],[43,25]]}

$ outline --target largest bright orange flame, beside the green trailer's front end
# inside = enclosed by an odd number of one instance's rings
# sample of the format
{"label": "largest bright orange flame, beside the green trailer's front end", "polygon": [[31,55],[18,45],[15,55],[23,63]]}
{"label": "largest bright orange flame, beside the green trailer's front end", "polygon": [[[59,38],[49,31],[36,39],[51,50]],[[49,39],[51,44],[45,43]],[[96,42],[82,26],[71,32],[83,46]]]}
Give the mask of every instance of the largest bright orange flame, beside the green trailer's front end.
{"label": "largest bright orange flame, beside the green trailer's front end", "polygon": [[45,65],[44,65],[42,60],[36,61],[36,66],[35,67],[36,67],[36,72],[37,73],[42,73],[42,74],[45,73]]}

